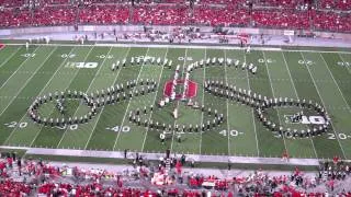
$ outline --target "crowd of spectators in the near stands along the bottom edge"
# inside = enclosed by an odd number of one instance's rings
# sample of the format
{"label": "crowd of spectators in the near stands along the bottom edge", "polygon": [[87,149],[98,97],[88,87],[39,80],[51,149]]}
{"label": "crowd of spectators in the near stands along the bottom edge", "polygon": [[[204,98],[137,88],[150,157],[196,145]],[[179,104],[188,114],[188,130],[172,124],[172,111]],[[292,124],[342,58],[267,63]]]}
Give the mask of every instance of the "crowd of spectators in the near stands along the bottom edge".
{"label": "crowd of spectators in the near stands along the bottom edge", "polygon": [[[296,167],[290,175],[272,176],[258,170],[249,175],[224,178],[182,170],[189,164],[185,155],[165,157],[154,165],[136,154],[132,159],[133,170],[121,172],[98,165],[92,169],[58,166],[16,158],[15,153],[1,155],[0,194],[4,196],[351,196],[344,182],[351,169],[340,161],[321,164],[315,176],[305,175]],[[162,175],[160,183],[154,182],[156,175]],[[324,190],[310,192],[321,185]],[[344,189],[333,193],[335,185]]]}

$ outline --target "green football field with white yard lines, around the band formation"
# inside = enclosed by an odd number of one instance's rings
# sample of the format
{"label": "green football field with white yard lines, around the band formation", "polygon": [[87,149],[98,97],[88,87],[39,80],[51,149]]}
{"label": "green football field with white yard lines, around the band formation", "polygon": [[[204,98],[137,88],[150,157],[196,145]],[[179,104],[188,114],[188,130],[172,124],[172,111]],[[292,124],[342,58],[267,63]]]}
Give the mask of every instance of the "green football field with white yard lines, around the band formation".
{"label": "green football field with white yard lines, around the band formation", "polygon": [[[167,58],[171,68],[141,61],[129,65],[131,59]],[[163,99],[165,84],[173,79],[180,67],[180,79],[186,67],[202,59],[230,58],[253,63],[256,74],[226,63],[202,67],[191,72],[190,80],[197,84],[193,103],[217,109],[224,121],[204,131],[167,132],[160,142],[160,129],[129,121],[129,113],[144,106],[154,106],[144,118],[160,125],[202,125],[212,121],[207,112],[174,101],[157,107]],[[116,61],[127,66],[112,71]],[[156,90],[114,104],[102,105],[84,124],[52,127],[34,123],[29,107],[37,96],[65,91],[98,94],[115,84],[136,80],[154,80]],[[254,108],[204,90],[205,81],[223,81],[238,89],[251,90],[267,97],[306,99],[321,104],[331,118],[326,134],[316,137],[279,135],[267,129]],[[138,88],[133,88],[138,89]],[[132,90],[133,90],[132,89]],[[181,92],[178,85],[176,91]],[[89,107],[78,100],[64,102],[66,116],[83,116]],[[219,47],[162,47],[150,46],[81,46],[81,45],[7,45],[0,50],[0,144],[10,147],[59,148],[81,150],[281,157],[286,150],[293,158],[326,159],[339,155],[351,159],[351,53],[285,49],[251,49]],[[173,117],[178,107],[179,117]],[[61,117],[55,101],[38,108],[42,116]],[[268,116],[278,125],[292,129],[308,129],[310,124],[290,123],[298,112],[294,107],[273,107]],[[308,114],[314,116],[315,114]],[[308,118],[308,116],[306,116]],[[180,134],[179,134],[180,132]],[[181,142],[178,142],[181,136]]]}

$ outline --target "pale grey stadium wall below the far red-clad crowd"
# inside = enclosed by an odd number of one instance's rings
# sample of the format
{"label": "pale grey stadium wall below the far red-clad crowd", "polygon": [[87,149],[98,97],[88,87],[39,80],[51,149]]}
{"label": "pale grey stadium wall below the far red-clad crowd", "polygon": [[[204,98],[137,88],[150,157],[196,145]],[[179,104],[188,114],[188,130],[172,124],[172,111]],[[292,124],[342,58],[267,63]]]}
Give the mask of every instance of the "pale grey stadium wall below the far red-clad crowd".
{"label": "pale grey stadium wall below the far red-clad crowd", "polygon": [[[154,30],[161,32],[172,32],[173,28],[179,26],[152,26]],[[200,30],[201,33],[212,33],[213,27],[208,26],[194,26]],[[67,33],[67,32],[80,32],[80,33],[91,33],[91,32],[111,32],[116,31],[118,33],[128,32],[144,32],[143,25],[79,25],[78,28],[75,26],[43,26],[43,27],[23,27],[23,28],[8,28],[0,30],[0,36],[19,36],[23,34],[50,34],[50,33]],[[223,27],[233,33],[244,33],[251,35],[284,35],[286,30],[270,30],[270,28],[242,28],[242,27]],[[295,31],[295,35],[307,35],[310,31]],[[351,40],[351,34],[344,33],[332,33],[332,32],[313,32],[317,37],[325,38],[339,38]]]}

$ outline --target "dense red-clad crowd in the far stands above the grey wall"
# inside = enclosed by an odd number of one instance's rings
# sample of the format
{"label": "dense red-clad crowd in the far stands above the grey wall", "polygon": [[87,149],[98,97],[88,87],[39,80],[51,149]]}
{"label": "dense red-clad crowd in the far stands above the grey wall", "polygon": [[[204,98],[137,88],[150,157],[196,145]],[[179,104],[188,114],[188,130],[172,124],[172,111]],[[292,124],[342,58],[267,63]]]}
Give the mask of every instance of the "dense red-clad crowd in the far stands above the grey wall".
{"label": "dense red-clad crowd in the far stands above the grey wall", "polygon": [[[35,1],[37,2],[37,1]],[[123,0],[41,0],[29,7],[23,0],[0,0],[0,27],[144,24],[253,26],[269,28],[351,31],[350,0],[167,0],[162,3]]]}

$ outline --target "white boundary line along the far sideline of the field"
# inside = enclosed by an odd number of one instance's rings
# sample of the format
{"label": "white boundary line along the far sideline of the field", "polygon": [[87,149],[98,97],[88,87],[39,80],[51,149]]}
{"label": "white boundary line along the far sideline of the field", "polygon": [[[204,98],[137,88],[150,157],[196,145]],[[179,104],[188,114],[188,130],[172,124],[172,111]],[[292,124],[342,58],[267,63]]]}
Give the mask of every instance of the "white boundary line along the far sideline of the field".
{"label": "white boundary line along the far sideline of the field", "polygon": [[[7,44],[7,45],[23,45],[23,44]],[[125,44],[93,44],[93,45],[78,45],[78,44],[33,44],[38,46],[95,46],[95,47],[145,47],[146,45],[150,48],[159,48],[159,47],[168,47],[168,48],[206,48],[211,47],[213,49],[236,49],[241,50],[241,47],[238,46],[212,46],[212,45],[168,45],[168,44],[152,44],[152,43],[144,43],[144,44],[133,44],[133,43],[125,43]],[[302,46],[299,46],[302,47]],[[303,46],[303,47],[314,47],[314,46]],[[317,46],[318,47],[318,46]],[[251,47],[251,50],[272,50],[272,51],[305,51],[305,53],[338,53],[338,54],[351,54],[351,51],[333,51],[333,50],[298,50],[298,49],[283,49],[280,47]]]}

